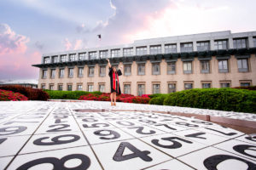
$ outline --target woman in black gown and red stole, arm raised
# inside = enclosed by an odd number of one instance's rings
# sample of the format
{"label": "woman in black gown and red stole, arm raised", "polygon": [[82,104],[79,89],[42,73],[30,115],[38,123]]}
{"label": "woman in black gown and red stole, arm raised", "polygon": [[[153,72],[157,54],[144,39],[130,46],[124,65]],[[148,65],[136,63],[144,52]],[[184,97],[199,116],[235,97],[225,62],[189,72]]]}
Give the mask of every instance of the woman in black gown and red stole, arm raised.
{"label": "woman in black gown and red stole, arm raised", "polygon": [[[108,76],[110,77],[110,88],[111,88],[111,105],[116,105],[116,94],[121,94],[120,85],[119,85],[119,76],[122,75],[122,71],[118,70],[116,71],[116,67],[112,66],[108,60],[108,66],[109,66],[109,72]],[[120,69],[122,69],[122,66],[120,66]]]}

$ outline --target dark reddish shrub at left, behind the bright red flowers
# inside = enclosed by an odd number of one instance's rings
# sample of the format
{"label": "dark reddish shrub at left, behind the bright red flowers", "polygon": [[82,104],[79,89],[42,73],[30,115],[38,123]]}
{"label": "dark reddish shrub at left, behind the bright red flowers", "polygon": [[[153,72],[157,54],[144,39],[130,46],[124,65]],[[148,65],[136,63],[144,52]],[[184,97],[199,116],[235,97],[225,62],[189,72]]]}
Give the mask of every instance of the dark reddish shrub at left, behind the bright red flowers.
{"label": "dark reddish shrub at left, behind the bright red flowers", "polygon": [[38,88],[25,88],[20,85],[8,85],[8,86],[1,86],[0,89],[10,90],[15,93],[23,94],[30,100],[49,99],[49,94],[44,92],[42,89],[38,89]]}

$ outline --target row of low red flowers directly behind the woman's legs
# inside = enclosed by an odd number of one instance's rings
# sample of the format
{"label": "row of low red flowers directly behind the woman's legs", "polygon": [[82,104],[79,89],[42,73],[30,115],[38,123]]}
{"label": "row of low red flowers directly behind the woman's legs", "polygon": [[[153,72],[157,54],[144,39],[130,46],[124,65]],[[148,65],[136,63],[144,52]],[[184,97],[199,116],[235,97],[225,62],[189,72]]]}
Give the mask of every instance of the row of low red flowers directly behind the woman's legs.
{"label": "row of low red flowers directly behind the woman's legs", "polygon": [[[110,101],[110,94],[85,94],[80,96],[80,100],[96,100],[96,101]],[[148,104],[148,97],[138,97],[131,94],[120,94],[116,96],[116,101],[125,103]]]}

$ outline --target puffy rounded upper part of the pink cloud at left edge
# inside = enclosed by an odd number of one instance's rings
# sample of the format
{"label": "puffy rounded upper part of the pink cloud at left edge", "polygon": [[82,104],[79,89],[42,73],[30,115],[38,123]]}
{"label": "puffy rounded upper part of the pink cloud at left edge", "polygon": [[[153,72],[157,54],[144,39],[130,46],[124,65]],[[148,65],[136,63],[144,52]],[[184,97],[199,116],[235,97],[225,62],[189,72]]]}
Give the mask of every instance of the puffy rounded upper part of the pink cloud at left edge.
{"label": "puffy rounded upper part of the pink cloud at left edge", "polygon": [[0,24],[0,54],[24,53],[29,38],[16,34],[7,24]]}

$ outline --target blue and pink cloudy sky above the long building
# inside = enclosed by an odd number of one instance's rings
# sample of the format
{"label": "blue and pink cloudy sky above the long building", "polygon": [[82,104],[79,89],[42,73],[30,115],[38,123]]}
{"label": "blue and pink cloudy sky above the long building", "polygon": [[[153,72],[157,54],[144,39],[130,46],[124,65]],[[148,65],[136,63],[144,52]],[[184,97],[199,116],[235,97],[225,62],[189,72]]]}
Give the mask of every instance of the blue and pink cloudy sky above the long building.
{"label": "blue and pink cloudy sky above the long building", "polygon": [[255,0],[0,0],[0,80],[38,79],[31,65],[44,53],[256,31],[255,6]]}

